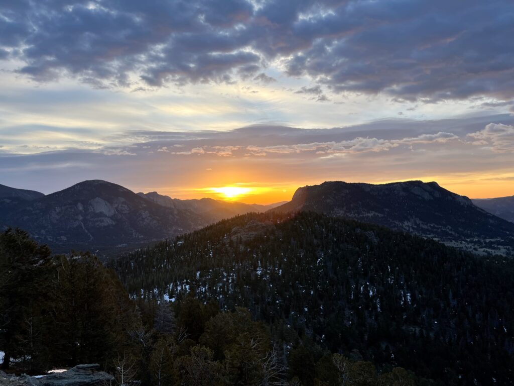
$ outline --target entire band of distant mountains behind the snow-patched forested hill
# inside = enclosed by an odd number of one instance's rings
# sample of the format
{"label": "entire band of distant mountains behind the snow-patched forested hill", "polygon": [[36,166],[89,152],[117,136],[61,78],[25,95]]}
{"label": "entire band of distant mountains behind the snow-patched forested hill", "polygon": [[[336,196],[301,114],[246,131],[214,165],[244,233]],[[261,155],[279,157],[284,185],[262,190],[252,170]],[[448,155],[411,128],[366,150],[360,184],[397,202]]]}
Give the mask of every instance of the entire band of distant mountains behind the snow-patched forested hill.
{"label": "entire band of distant mountains behind the snow-patched forested hill", "polygon": [[[478,203],[497,200],[503,199]],[[113,254],[222,219],[267,210],[310,211],[371,222],[478,253],[510,255],[514,247],[514,223],[435,182],[324,182],[301,187],[291,201],[272,205],[210,198],[178,200],[157,192],[135,194],[102,180],[84,181],[47,196],[0,185],[0,226],[19,226],[55,252],[87,249]]]}

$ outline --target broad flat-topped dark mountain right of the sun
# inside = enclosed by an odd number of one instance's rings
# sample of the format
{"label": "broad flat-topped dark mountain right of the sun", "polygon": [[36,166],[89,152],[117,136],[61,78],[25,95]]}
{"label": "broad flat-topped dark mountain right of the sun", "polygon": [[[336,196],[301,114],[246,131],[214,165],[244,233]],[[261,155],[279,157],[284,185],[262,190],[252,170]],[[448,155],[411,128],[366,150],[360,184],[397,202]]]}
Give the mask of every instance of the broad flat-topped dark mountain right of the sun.
{"label": "broad flat-topped dark mountain right of the sun", "polygon": [[309,210],[431,237],[457,247],[511,254],[514,224],[435,182],[324,182],[299,188],[276,212]]}

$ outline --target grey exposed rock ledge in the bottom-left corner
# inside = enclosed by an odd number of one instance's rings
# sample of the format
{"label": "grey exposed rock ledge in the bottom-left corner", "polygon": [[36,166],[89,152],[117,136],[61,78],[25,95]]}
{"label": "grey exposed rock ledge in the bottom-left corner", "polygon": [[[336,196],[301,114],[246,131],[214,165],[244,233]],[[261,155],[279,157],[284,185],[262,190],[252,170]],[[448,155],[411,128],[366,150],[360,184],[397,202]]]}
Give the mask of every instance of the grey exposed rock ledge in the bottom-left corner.
{"label": "grey exposed rock ledge in the bottom-left corner", "polygon": [[114,380],[112,375],[97,371],[99,364],[79,364],[62,373],[30,377],[0,371],[0,386],[103,386]]}

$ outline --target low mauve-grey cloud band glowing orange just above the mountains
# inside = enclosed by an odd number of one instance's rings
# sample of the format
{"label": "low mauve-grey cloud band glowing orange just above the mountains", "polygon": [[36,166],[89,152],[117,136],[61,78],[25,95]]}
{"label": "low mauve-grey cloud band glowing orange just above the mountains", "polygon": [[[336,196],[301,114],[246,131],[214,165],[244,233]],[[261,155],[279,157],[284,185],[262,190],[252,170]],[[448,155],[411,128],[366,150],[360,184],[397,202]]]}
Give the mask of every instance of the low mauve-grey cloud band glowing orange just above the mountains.
{"label": "low mauve-grey cloud band glowing orange just above the mountains", "polygon": [[[513,141],[508,135],[513,128],[514,116],[503,114],[383,119],[331,129],[275,124],[231,131],[129,131],[95,148],[41,149],[30,154],[3,142],[7,149],[0,151],[0,181],[51,192],[90,179],[136,190],[163,186],[163,181],[177,188],[266,181],[292,189],[335,179],[455,181],[488,176],[503,189],[498,195],[506,196],[506,182],[498,181],[511,178]],[[290,183],[284,185],[286,181]],[[493,197],[492,190],[487,193],[489,187],[484,184],[482,197]]]}

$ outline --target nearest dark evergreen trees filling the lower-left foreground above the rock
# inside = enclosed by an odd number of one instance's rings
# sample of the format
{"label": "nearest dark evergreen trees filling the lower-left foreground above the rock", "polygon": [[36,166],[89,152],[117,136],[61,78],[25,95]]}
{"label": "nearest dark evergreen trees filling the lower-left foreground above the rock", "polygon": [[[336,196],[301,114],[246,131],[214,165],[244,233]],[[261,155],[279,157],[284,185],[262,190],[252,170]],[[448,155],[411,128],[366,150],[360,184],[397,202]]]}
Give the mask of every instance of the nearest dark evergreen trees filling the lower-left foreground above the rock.
{"label": "nearest dark evergreen trees filling the lower-left foreground above the rock", "polygon": [[331,353],[286,323],[184,296],[131,300],[89,254],[52,256],[27,233],[0,234],[2,367],[41,374],[101,363],[119,385],[431,384],[394,367],[377,372],[353,352]]}

